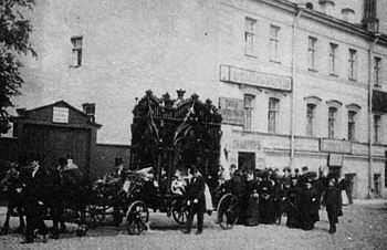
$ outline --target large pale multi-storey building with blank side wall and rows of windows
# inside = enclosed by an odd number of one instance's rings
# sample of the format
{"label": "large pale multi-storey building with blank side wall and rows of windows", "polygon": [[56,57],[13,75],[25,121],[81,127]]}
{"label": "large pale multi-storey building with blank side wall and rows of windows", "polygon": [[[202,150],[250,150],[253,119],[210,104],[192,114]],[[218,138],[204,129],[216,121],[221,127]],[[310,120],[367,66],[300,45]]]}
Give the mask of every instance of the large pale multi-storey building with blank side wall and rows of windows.
{"label": "large pale multi-storey building with blank side wall and rows of windows", "polygon": [[328,165],[355,197],[387,196],[380,2],[39,1],[14,101],[93,102],[98,142],[129,144],[135,98],[184,88],[219,102],[222,165]]}

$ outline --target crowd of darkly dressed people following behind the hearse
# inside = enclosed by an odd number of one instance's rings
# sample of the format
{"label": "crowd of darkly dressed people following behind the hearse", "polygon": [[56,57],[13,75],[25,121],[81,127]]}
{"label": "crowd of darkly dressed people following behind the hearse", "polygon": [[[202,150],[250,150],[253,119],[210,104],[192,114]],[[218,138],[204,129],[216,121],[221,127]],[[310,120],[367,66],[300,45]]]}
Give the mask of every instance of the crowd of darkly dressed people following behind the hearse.
{"label": "crowd of darkly dressed people following behind the hearse", "polygon": [[238,198],[239,219],[237,223],[257,226],[259,223],[281,223],[286,215],[289,228],[314,229],[320,220],[318,210],[324,207],[330,220],[330,232],[336,232],[336,223],[342,211],[342,190],[347,186],[344,179],[328,174],[327,168],[320,173],[292,173],[283,169],[241,171],[231,167],[231,179],[224,181],[220,170],[220,189]]}

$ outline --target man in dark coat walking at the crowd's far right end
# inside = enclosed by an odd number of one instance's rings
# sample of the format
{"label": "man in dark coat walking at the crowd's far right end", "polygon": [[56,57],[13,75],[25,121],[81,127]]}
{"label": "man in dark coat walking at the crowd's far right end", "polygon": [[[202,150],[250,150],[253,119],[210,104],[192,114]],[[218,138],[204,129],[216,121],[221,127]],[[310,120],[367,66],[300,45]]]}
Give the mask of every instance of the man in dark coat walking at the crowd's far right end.
{"label": "man in dark coat walking at the crowd's far right end", "polygon": [[325,190],[323,205],[326,206],[326,212],[330,220],[330,233],[336,232],[336,223],[338,223],[338,217],[342,216],[342,190],[335,178],[330,178],[328,187]]}

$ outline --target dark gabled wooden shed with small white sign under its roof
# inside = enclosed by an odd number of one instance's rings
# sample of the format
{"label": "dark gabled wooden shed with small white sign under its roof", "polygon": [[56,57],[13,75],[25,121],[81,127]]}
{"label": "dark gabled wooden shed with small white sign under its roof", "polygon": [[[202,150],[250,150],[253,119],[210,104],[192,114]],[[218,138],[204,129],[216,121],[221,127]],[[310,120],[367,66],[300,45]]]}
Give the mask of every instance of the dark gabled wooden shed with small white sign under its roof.
{"label": "dark gabled wooden shed with small white sign under its roof", "polygon": [[94,122],[94,115],[59,101],[18,110],[12,122],[19,160],[39,154],[43,166],[56,166],[60,157],[73,156],[74,163],[90,175],[91,166],[95,165],[96,131],[102,126]]}

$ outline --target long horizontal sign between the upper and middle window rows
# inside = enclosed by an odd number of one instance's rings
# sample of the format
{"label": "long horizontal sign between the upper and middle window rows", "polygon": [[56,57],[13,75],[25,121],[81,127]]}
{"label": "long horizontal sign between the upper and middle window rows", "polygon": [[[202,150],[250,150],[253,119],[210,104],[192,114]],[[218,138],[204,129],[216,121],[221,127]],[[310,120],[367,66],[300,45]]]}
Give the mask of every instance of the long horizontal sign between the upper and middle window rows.
{"label": "long horizontal sign between the upper and middle window rows", "polygon": [[292,91],[292,79],[289,76],[265,74],[230,65],[220,65],[220,81]]}

